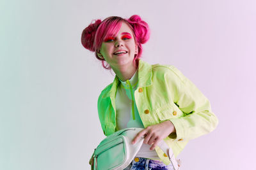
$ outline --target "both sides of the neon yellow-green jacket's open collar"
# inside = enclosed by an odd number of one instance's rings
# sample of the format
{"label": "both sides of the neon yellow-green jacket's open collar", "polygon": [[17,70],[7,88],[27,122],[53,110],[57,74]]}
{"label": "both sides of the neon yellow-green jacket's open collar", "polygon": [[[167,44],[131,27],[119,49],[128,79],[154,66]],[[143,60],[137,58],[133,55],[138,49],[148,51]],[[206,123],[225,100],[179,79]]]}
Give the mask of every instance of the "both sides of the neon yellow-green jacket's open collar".
{"label": "both sides of the neon yellow-green jacket's open collar", "polygon": [[[139,60],[138,87],[147,87],[152,85],[152,66],[141,59],[138,59],[138,60]],[[106,95],[102,96],[102,98],[110,97],[111,100],[115,100],[116,89],[119,83],[120,81],[118,80],[118,77],[115,76],[111,89]]]}

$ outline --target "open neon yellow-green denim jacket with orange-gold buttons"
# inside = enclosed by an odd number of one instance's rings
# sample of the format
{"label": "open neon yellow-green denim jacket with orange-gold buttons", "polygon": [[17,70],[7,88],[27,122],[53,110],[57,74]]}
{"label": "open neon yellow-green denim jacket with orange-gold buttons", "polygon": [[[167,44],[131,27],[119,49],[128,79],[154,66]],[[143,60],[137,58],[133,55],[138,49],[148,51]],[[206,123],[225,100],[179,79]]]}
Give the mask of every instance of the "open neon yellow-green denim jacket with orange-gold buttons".
{"label": "open neon yellow-green denim jacket with orange-gold buttons", "polygon": [[[116,76],[98,100],[100,124],[106,136],[116,131],[115,94],[119,83]],[[144,127],[166,120],[173,123],[176,134],[170,134],[164,141],[175,157],[190,139],[207,134],[218,125],[209,100],[174,66],[150,65],[140,59],[134,98]],[[159,147],[156,152],[165,164],[170,163]]]}

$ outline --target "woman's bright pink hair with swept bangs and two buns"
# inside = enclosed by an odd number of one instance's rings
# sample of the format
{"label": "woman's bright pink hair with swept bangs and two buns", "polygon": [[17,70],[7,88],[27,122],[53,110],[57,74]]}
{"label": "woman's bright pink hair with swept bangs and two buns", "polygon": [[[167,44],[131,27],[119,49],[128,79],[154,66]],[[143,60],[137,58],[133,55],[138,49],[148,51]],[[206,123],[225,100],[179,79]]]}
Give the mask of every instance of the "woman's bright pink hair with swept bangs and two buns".
{"label": "woman's bright pink hair with swept bangs and two buns", "polygon": [[134,56],[134,61],[141,57],[142,46],[148,41],[150,31],[147,22],[141,20],[139,15],[132,15],[129,19],[122,17],[108,17],[101,22],[101,20],[95,20],[95,23],[91,23],[86,27],[82,33],[81,42],[84,48],[95,52],[97,59],[102,61],[102,66],[106,69],[111,69],[110,66],[105,66],[104,59],[99,58],[97,52],[99,52],[103,39],[108,36],[116,36],[119,31],[122,22],[125,22],[134,33],[135,43],[138,45],[138,54]]}

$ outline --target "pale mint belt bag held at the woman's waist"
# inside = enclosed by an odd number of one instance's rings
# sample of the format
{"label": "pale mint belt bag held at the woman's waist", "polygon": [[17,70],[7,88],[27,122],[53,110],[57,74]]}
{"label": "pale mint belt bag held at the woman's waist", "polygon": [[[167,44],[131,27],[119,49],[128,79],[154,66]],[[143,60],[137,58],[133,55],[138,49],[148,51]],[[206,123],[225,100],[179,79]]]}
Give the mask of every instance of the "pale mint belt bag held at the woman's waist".
{"label": "pale mint belt bag held at the woman's waist", "polygon": [[93,153],[93,169],[125,169],[134,159],[143,144],[140,138],[134,145],[132,139],[141,128],[126,128],[103,139]]}

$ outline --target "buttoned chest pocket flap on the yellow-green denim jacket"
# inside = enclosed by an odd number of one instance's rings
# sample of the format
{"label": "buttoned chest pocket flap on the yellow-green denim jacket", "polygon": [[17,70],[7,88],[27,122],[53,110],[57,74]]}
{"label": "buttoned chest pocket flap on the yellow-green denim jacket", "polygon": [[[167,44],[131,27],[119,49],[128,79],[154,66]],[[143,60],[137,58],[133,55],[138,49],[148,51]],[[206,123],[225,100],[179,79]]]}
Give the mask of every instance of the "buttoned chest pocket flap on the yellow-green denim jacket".
{"label": "buttoned chest pocket flap on the yellow-green denim jacket", "polygon": [[183,112],[174,103],[161,106],[157,108],[154,112],[156,113],[159,120],[161,120],[161,122],[165,120],[170,120],[170,118],[182,117],[183,115]]}

